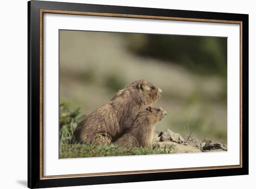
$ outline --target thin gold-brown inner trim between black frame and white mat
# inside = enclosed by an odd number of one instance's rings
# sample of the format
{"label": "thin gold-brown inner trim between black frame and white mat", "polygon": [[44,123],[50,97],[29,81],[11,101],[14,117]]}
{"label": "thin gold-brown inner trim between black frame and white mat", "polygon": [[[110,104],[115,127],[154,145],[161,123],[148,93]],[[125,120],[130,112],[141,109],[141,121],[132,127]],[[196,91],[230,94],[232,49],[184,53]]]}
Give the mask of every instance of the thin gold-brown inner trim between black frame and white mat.
{"label": "thin gold-brown inner trim between black frame and white mat", "polygon": [[[44,176],[43,175],[43,14],[44,13],[120,17],[120,18],[135,18],[135,19],[177,20],[177,21],[191,21],[191,22],[222,23],[222,24],[239,24],[240,26],[240,164],[209,166],[209,167],[178,168],[178,169],[134,170],[134,171]],[[193,19],[193,18],[146,16],[146,15],[116,14],[116,13],[91,13],[91,12],[40,9],[40,180],[52,179],[52,178],[83,177],[83,176],[110,176],[110,175],[124,175],[124,174],[189,171],[189,170],[231,169],[231,168],[241,168],[242,166],[243,166],[242,165],[242,21],[217,20],[217,19]]]}

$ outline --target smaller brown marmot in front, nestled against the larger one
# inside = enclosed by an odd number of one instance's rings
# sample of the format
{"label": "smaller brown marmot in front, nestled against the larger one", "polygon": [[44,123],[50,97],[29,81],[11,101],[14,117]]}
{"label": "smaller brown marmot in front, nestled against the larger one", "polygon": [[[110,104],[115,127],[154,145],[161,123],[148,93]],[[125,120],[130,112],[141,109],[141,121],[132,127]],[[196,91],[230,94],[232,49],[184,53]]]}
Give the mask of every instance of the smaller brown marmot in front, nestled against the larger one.
{"label": "smaller brown marmot in front, nestled against the larger one", "polygon": [[151,147],[155,124],[167,114],[161,107],[148,106],[139,112],[128,131],[114,142],[114,145],[134,148]]}

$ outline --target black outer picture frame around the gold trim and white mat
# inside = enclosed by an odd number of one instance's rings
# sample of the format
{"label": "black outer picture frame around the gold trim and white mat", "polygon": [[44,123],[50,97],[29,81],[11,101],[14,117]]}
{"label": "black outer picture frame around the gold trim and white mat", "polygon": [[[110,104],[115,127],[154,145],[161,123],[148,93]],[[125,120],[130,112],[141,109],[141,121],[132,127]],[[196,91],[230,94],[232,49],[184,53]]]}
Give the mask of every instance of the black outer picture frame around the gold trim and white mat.
{"label": "black outer picture frame around the gold trim and white mat", "polygon": [[[156,8],[106,6],[79,3],[29,1],[28,9],[28,187],[47,188],[107,183],[128,183],[170,179],[234,176],[249,174],[249,15],[200,11],[168,10]],[[40,176],[40,10],[60,10],[91,13],[147,15],[173,18],[214,19],[242,22],[242,166],[229,169],[180,170],[106,176],[47,178]]]}

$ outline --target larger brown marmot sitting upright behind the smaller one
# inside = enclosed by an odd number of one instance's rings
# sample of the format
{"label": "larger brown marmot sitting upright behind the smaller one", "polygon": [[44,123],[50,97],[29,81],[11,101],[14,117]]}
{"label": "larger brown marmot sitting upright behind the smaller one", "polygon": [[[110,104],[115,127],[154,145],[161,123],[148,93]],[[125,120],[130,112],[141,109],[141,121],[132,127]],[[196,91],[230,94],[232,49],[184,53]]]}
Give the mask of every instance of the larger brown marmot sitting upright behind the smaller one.
{"label": "larger brown marmot sitting upright behind the smaller one", "polygon": [[91,112],[78,124],[72,142],[110,145],[131,126],[141,107],[153,104],[161,94],[160,88],[144,80],[128,84],[108,104]]}

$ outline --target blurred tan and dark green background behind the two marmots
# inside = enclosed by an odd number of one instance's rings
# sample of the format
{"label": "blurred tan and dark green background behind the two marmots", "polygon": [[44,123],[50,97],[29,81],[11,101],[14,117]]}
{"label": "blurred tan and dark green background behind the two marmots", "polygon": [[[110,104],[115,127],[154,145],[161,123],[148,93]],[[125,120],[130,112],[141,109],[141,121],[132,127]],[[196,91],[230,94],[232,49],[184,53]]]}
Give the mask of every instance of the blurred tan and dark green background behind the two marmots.
{"label": "blurred tan and dark green background behind the two marmots", "polygon": [[170,128],[227,144],[227,38],[60,30],[60,101],[86,115],[129,82],[162,89]]}

